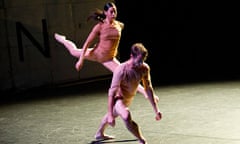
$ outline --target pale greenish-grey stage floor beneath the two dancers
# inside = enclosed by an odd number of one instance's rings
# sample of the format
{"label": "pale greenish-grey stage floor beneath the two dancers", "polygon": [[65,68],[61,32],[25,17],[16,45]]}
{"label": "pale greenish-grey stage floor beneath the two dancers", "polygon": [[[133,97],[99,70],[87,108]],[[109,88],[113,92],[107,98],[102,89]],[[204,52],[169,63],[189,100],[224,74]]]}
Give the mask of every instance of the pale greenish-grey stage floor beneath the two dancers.
{"label": "pale greenish-grey stage floor beneath the two dancers", "polygon": [[[0,105],[1,144],[137,144],[120,118],[96,142],[95,132],[107,111],[103,84],[74,85],[19,93]],[[240,82],[222,81],[155,86],[161,121],[137,94],[130,110],[148,144],[239,144]]]}

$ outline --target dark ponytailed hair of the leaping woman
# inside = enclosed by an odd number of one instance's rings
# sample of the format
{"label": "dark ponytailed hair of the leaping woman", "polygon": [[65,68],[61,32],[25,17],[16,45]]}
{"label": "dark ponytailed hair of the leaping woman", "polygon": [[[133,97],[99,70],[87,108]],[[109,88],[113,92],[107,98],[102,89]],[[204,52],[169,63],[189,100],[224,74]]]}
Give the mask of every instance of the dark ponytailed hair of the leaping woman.
{"label": "dark ponytailed hair of the leaping woman", "polygon": [[[116,5],[113,2],[108,2],[104,5],[103,10],[108,11],[109,8],[116,7]],[[103,20],[106,18],[106,15],[104,14],[104,11],[100,9],[96,9],[95,12],[93,12],[88,18],[87,21],[90,19],[103,22]]]}

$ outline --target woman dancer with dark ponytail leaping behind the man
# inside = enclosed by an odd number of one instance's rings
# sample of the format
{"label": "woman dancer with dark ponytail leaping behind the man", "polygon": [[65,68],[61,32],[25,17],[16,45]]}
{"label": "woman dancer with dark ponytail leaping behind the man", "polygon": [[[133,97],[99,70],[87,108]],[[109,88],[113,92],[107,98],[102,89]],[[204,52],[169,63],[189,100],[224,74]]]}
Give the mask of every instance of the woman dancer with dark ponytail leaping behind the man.
{"label": "woman dancer with dark ponytail leaping behind the man", "polygon": [[[106,3],[103,11],[98,9],[90,15],[88,19],[97,20],[98,23],[92,28],[81,49],[77,48],[72,41],[67,40],[65,36],[55,33],[55,39],[62,43],[72,56],[79,58],[75,65],[77,71],[82,68],[84,59],[99,62],[112,72],[120,65],[116,55],[124,24],[116,20],[116,17],[117,7],[113,2]],[[89,48],[96,39],[98,43],[93,48]],[[147,98],[141,85],[138,91]],[[158,97],[156,99],[158,100]]]}

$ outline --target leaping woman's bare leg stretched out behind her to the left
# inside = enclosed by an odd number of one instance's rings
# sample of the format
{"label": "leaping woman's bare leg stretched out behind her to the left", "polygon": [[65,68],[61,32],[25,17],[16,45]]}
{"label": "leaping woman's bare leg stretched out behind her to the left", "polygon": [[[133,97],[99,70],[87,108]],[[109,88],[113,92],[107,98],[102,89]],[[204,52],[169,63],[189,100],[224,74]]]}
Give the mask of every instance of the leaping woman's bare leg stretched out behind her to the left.
{"label": "leaping woman's bare leg stretched out behind her to the left", "polygon": [[82,50],[78,49],[77,46],[72,41],[67,40],[64,35],[60,35],[57,33],[54,34],[54,37],[59,43],[63,44],[68,49],[72,56],[76,58],[80,57]]}

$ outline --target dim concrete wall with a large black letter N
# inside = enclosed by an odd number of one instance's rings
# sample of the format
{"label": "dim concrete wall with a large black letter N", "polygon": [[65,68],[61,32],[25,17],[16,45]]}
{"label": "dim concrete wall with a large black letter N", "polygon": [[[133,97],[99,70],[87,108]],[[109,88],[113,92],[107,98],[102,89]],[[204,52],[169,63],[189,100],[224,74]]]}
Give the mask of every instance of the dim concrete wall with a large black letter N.
{"label": "dim concrete wall with a large black letter N", "polygon": [[102,9],[105,2],[0,0],[0,90],[28,89],[110,75],[102,65],[89,61],[77,72],[74,68],[77,59],[53,37],[55,32],[64,34],[81,47],[95,24],[86,22],[87,16],[95,8]]}

